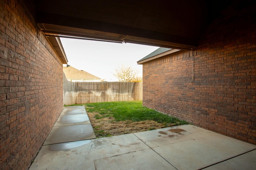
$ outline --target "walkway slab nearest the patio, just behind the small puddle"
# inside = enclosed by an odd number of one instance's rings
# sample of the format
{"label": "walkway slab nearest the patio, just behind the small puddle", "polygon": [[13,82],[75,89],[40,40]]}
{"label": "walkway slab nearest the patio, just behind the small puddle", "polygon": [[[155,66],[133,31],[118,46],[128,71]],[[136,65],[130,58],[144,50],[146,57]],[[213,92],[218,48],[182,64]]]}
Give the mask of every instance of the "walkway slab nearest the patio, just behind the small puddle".
{"label": "walkway slab nearest the patio, just behind the small puddle", "polygon": [[96,138],[91,124],[54,126],[44,145]]}

